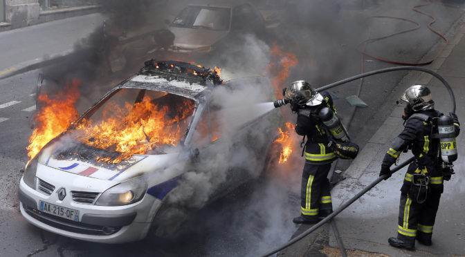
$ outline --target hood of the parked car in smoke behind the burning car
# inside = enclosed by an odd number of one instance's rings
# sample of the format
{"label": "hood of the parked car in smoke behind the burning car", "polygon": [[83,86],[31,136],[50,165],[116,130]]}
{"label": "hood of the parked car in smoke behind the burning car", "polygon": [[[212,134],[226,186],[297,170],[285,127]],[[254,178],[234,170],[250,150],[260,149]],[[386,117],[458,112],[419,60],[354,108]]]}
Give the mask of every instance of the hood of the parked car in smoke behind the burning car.
{"label": "hood of the parked car in smoke behind the burning car", "polygon": [[204,28],[170,27],[174,34],[174,46],[179,48],[197,49],[212,46],[228,35],[228,30],[208,30]]}

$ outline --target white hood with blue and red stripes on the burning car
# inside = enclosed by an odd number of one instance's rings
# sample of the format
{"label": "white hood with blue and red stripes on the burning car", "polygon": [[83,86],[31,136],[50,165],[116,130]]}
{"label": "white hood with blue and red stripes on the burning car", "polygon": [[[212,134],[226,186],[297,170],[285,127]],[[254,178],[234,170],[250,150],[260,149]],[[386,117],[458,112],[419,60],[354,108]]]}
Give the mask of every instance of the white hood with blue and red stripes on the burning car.
{"label": "white hood with blue and red stripes on the burning car", "polygon": [[172,166],[179,166],[182,158],[179,153],[169,153],[161,155],[133,155],[127,160],[118,164],[104,164],[93,160],[79,160],[78,158],[60,158],[53,154],[55,144],[43,149],[39,163],[60,171],[74,173],[99,180],[110,180],[123,182],[131,178],[151,173],[163,173],[163,175],[151,176],[152,184],[158,184],[180,175],[183,168],[176,169],[175,172],[167,173],[166,170]]}

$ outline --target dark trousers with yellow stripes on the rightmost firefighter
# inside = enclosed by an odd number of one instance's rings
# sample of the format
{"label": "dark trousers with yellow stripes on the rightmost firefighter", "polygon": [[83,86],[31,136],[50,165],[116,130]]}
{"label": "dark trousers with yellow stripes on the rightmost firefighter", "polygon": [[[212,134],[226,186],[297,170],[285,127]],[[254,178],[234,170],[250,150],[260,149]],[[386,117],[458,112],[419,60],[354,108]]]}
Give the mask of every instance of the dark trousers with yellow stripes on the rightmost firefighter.
{"label": "dark trousers with yellow stripes on the rightmost firefighter", "polygon": [[433,190],[426,201],[420,204],[402,193],[397,238],[411,244],[414,244],[415,238],[423,241],[431,240],[440,199],[441,193]]}

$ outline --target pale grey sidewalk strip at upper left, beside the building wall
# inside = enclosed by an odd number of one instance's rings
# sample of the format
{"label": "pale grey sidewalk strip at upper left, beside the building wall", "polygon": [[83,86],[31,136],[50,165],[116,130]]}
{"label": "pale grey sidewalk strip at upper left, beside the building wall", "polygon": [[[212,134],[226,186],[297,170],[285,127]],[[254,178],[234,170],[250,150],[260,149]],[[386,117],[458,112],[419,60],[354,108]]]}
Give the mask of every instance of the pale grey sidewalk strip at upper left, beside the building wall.
{"label": "pale grey sidewalk strip at upper left, beside the building wall", "polygon": [[102,14],[94,13],[1,32],[0,79],[71,53],[103,21]]}

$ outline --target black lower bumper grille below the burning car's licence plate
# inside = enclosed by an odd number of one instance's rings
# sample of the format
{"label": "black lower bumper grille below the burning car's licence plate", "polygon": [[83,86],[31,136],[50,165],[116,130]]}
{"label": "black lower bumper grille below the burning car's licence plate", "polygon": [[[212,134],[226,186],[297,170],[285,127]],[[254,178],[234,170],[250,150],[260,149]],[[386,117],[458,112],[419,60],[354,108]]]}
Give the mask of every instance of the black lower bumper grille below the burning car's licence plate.
{"label": "black lower bumper grille below the burning car's licence plate", "polygon": [[26,206],[26,212],[36,220],[44,222],[46,225],[50,225],[52,227],[56,227],[57,229],[63,229],[79,234],[109,236],[111,234],[115,234],[121,229],[121,227],[110,228],[104,226],[90,225],[74,220],[68,220],[66,218],[61,218],[48,213],[44,213],[29,206]]}

